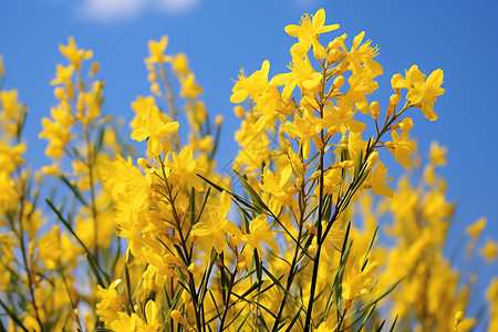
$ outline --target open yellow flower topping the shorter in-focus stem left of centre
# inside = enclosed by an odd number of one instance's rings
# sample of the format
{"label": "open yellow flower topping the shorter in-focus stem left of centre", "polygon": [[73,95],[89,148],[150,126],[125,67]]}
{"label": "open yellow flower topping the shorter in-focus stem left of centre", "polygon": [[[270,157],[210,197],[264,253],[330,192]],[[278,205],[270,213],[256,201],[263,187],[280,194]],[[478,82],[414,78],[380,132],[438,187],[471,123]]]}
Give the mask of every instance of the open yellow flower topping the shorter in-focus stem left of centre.
{"label": "open yellow flower topping the shorter in-focus stem left of centre", "polygon": [[163,152],[163,145],[160,144],[163,138],[178,131],[179,124],[177,122],[163,122],[156,106],[149,106],[146,116],[145,123],[132,133],[132,139],[142,142],[148,137],[148,152],[156,157]]}

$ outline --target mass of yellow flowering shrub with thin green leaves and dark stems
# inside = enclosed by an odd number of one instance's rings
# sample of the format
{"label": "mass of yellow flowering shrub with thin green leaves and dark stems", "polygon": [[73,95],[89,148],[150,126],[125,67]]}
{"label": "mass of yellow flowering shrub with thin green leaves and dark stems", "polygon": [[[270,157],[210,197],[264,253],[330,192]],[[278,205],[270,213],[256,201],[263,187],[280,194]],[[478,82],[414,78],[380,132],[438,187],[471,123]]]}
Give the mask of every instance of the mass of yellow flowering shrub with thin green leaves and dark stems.
{"label": "mass of yellow flowering shrub with thin green leaves and dark stems", "polygon": [[[443,256],[446,148],[430,146],[416,186],[407,173],[393,189],[383,162],[418,167],[408,116],[437,120],[443,71],[395,74],[381,107],[367,100],[378,48],[364,32],[321,41],[338,29],[323,9],[304,14],[286,27],[288,72],[269,77],[267,60],[241,71],[230,174],[216,167],[222,117],[208,115],[186,55],[165,54],[167,37],[148,44],[153,95],[132,103],[144,153],[101,113],[98,64],[72,38],[42,118],[53,164],[41,172],[24,166],[28,107],[1,91],[0,331],[471,330],[484,319],[468,305],[476,277]],[[485,225],[467,229],[467,261]],[[480,253],[496,259],[496,242]],[[496,331],[497,279],[487,300]]]}

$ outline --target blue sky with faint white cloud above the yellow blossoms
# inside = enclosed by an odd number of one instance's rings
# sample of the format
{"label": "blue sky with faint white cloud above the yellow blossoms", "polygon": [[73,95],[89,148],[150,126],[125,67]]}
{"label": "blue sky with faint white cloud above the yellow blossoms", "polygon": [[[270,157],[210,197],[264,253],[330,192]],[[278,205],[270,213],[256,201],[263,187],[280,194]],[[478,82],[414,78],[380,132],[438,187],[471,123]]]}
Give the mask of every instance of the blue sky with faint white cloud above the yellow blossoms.
{"label": "blue sky with faint white cloud above the yellow blossoms", "polygon": [[[55,64],[64,61],[60,43],[74,35],[79,46],[94,51],[98,77],[106,82],[104,112],[129,121],[129,103],[149,93],[143,62],[147,41],[167,34],[167,51],[189,58],[210,113],[225,116],[219,163],[229,162],[239,127],[229,102],[232,79],[242,66],[247,73],[258,70],[264,59],[270,75],[286,72],[293,39],[283,28],[321,7],[326,23],[341,25],[325,39],[345,32],[351,43],[365,30],[365,38],[381,48],[377,61],[384,76],[374,96],[384,103],[393,74],[412,64],[426,74],[443,69],[446,93],[435,107],[439,120],[429,122],[418,112],[411,135],[423,156],[433,139],[449,148],[448,165],[440,173],[449,198],[458,203],[455,228],[487,216],[487,234],[497,239],[498,1],[3,0],[0,54],[8,70],[6,87],[19,89],[20,100],[30,107],[31,160],[49,163],[45,142],[38,142],[35,133],[55,104],[49,82]],[[391,174],[400,170],[393,167]]]}

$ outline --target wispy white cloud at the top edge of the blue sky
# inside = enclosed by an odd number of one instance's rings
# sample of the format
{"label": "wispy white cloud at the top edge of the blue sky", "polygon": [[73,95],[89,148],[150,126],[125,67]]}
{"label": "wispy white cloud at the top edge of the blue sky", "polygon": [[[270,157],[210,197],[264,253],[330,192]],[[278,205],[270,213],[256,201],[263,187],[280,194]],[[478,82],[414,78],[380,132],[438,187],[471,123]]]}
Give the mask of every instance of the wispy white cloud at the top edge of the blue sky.
{"label": "wispy white cloud at the top edge of the blue sky", "polygon": [[146,11],[179,13],[191,10],[200,0],[84,0],[77,14],[104,22],[132,20]]}

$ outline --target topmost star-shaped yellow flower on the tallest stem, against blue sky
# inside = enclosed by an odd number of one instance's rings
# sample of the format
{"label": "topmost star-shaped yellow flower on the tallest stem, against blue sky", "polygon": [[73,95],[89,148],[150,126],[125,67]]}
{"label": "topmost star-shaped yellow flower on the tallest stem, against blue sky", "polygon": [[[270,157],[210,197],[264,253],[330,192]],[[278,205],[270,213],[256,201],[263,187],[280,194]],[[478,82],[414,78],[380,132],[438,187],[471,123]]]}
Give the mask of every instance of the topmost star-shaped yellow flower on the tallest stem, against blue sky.
{"label": "topmost star-shaped yellow flower on the tallest stem, against blue sky", "polygon": [[291,53],[298,53],[303,56],[311,46],[313,52],[321,58],[326,58],[325,48],[319,43],[319,37],[321,33],[330,32],[339,29],[339,24],[325,25],[325,11],[323,8],[317,10],[313,19],[310,19],[308,13],[301,18],[301,24],[289,24],[286,27],[286,32],[291,37],[299,39],[299,42],[292,45]]}

